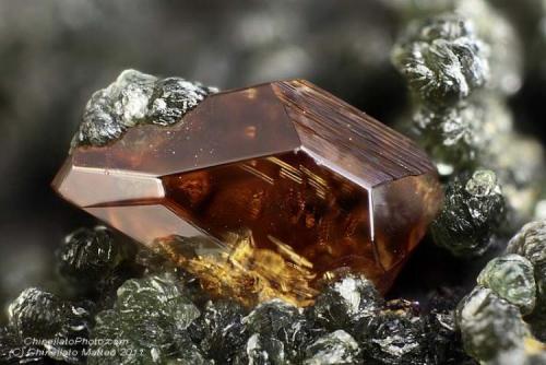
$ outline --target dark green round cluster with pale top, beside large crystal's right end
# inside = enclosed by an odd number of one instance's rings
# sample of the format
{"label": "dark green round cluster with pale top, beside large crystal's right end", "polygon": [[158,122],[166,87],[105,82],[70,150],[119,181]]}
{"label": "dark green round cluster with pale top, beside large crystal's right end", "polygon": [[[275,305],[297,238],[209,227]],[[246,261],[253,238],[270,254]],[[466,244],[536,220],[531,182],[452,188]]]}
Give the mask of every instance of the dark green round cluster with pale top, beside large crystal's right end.
{"label": "dark green round cluster with pale top, beside large crystal's right end", "polygon": [[505,199],[491,170],[455,177],[446,189],[446,204],[431,224],[435,243],[455,256],[479,256],[502,222]]}

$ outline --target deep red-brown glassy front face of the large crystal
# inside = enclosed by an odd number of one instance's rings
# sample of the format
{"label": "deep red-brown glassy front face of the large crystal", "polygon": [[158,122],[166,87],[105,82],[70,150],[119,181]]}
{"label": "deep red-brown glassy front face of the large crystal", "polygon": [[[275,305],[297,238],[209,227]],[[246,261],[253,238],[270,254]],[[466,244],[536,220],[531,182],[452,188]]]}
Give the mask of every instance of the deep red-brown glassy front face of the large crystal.
{"label": "deep red-brown glassy front face of the large crystal", "polygon": [[[250,231],[257,248],[294,252],[317,272],[341,267],[380,276],[368,192],[299,151],[164,177],[173,209],[224,242]],[[294,259],[294,257],[298,259]]]}

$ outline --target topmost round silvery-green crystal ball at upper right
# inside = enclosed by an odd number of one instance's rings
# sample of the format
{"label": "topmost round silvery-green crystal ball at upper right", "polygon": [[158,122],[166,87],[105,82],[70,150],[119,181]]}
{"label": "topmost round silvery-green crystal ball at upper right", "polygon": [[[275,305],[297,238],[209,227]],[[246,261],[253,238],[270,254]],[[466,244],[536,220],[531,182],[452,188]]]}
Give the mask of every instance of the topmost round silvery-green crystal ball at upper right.
{"label": "topmost round silvery-green crystal ball at upper right", "polygon": [[442,15],[418,21],[392,51],[393,63],[423,102],[449,105],[486,83],[485,45],[464,17]]}

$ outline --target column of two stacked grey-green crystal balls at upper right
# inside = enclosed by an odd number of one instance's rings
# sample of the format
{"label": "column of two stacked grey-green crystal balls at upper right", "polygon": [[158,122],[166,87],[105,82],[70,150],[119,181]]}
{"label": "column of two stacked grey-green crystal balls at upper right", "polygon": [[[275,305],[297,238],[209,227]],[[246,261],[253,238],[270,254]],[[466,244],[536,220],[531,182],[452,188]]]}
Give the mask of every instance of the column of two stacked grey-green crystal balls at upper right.
{"label": "column of two stacked grey-green crystal balls at upper right", "polygon": [[413,117],[400,128],[430,154],[441,175],[475,168],[485,148],[488,108],[470,96],[488,81],[487,56],[472,21],[454,13],[412,22],[392,50],[414,96]]}

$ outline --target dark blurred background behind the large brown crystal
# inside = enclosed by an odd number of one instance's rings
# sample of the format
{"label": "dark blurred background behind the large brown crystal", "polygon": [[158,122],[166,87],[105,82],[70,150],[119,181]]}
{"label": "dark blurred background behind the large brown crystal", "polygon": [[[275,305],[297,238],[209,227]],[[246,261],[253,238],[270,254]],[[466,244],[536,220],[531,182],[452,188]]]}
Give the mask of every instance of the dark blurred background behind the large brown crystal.
{"label": "dark blurred background behind the large brown crystal", "polygon": [[[396,2],[0,0],[0,304],[47,284],[55,247],[94,223],[49,187],[92,92],[127,68],[221,89],[305,78],[394,123],[407,107],[389,60],[403,26]],[[535,36],[533,0],[517,11],[497,2],[522,39]],[[524,45],[535,51],[533,42]],[[525,58],[523,86],[510,103],[520,129],[544,139],[543,59]],[[458,264],[419,248],[404,286],[419,285],[412,270],[425,262]]]}

